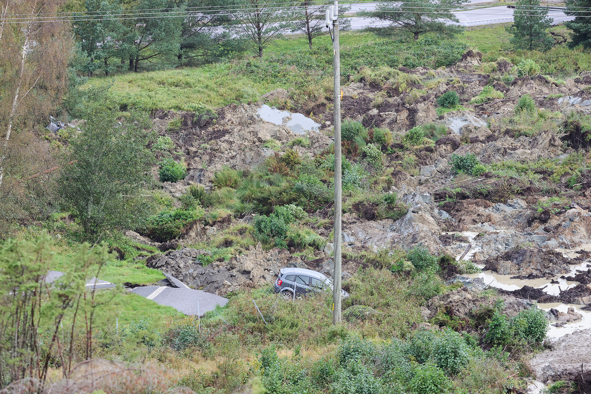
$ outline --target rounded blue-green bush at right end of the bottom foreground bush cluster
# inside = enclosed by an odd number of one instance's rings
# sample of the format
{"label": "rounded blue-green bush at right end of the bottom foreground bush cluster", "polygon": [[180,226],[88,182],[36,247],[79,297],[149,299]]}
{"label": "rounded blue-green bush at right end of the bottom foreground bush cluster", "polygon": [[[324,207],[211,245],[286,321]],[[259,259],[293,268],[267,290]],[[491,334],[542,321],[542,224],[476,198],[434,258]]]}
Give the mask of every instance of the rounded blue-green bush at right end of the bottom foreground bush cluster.
{"label": "rounded blue-green bush at right end of the bottom foreground bush cluster", "polygon": [[446,330],[433,344],[435,364],[450,374],[457,374],[468,362],[466,341],[453,330]]}

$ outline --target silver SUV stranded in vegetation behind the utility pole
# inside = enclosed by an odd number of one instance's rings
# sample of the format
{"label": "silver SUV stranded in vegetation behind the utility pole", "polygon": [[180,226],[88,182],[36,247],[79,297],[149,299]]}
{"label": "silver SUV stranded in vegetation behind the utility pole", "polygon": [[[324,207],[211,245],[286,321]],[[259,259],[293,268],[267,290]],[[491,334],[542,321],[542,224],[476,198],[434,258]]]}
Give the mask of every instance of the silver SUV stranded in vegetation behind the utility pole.
{"label": "silver SUV stranded in vegetation behind the utility pole", "polygon": [[[332,292],[333,282],[324,274],[303,268],[282,268],[275,280],[275,292],[284,298],[293,298],[295,295],[307,292]],[[342,298],[347,298],[349,293],[340,290]]]}

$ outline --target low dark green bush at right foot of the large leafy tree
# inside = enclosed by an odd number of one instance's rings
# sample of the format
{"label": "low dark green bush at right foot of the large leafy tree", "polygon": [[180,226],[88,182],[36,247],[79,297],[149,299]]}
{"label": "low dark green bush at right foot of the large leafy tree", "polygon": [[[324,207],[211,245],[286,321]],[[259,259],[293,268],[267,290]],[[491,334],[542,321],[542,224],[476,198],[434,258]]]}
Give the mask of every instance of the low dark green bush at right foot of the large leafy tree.
{"label": "low dark green bush at right foot of the large leafy tree", "polygon": [[145,230],[149,237],[159,242],[170,241],[183,235],[190,225],[203,218],[204,214],[202,208],[192,211],[181,208],[173,211],[165,209],[148,218]]}

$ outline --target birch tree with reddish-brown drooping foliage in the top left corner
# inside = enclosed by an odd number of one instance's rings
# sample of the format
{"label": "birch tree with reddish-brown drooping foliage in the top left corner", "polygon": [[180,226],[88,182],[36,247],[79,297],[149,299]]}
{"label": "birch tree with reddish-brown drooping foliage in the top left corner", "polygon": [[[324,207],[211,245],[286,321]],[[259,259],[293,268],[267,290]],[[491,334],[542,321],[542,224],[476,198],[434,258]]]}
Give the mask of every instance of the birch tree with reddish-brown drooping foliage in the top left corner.
{"label": "birch tree with reddish-brown drooping foliage in the top left corner", "polygon": [[[0,187],[11,135],[40,120],[67,88],[72,41],[66,22],[51,21],[57,0],[4,0],[0,15]],[[46,21],[50,20],[50,21]],[[4,132],[4,133],[2,133]],[[9,175],[9,174],[8,174]]]}

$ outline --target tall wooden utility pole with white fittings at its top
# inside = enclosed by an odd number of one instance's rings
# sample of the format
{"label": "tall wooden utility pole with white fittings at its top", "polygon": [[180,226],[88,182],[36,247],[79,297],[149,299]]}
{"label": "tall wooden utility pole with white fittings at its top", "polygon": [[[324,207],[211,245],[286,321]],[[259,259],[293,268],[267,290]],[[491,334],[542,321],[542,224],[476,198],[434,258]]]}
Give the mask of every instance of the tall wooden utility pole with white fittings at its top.
{"label": "tall wooden utility pole with white fittings at its top", "polygon": [[[339,47],[339,2],[330,7],[331,19],[333,22],[333,51],[334,51],[334,77],[335,77],[335,99],[333,101],[333,111],[335,114],[335,269],[333,273],[333,324],[341,321],[340,301],[341,301],[341,146],[340,146],[340,47]],[[327,18],[327,24],[328,24]]]}

